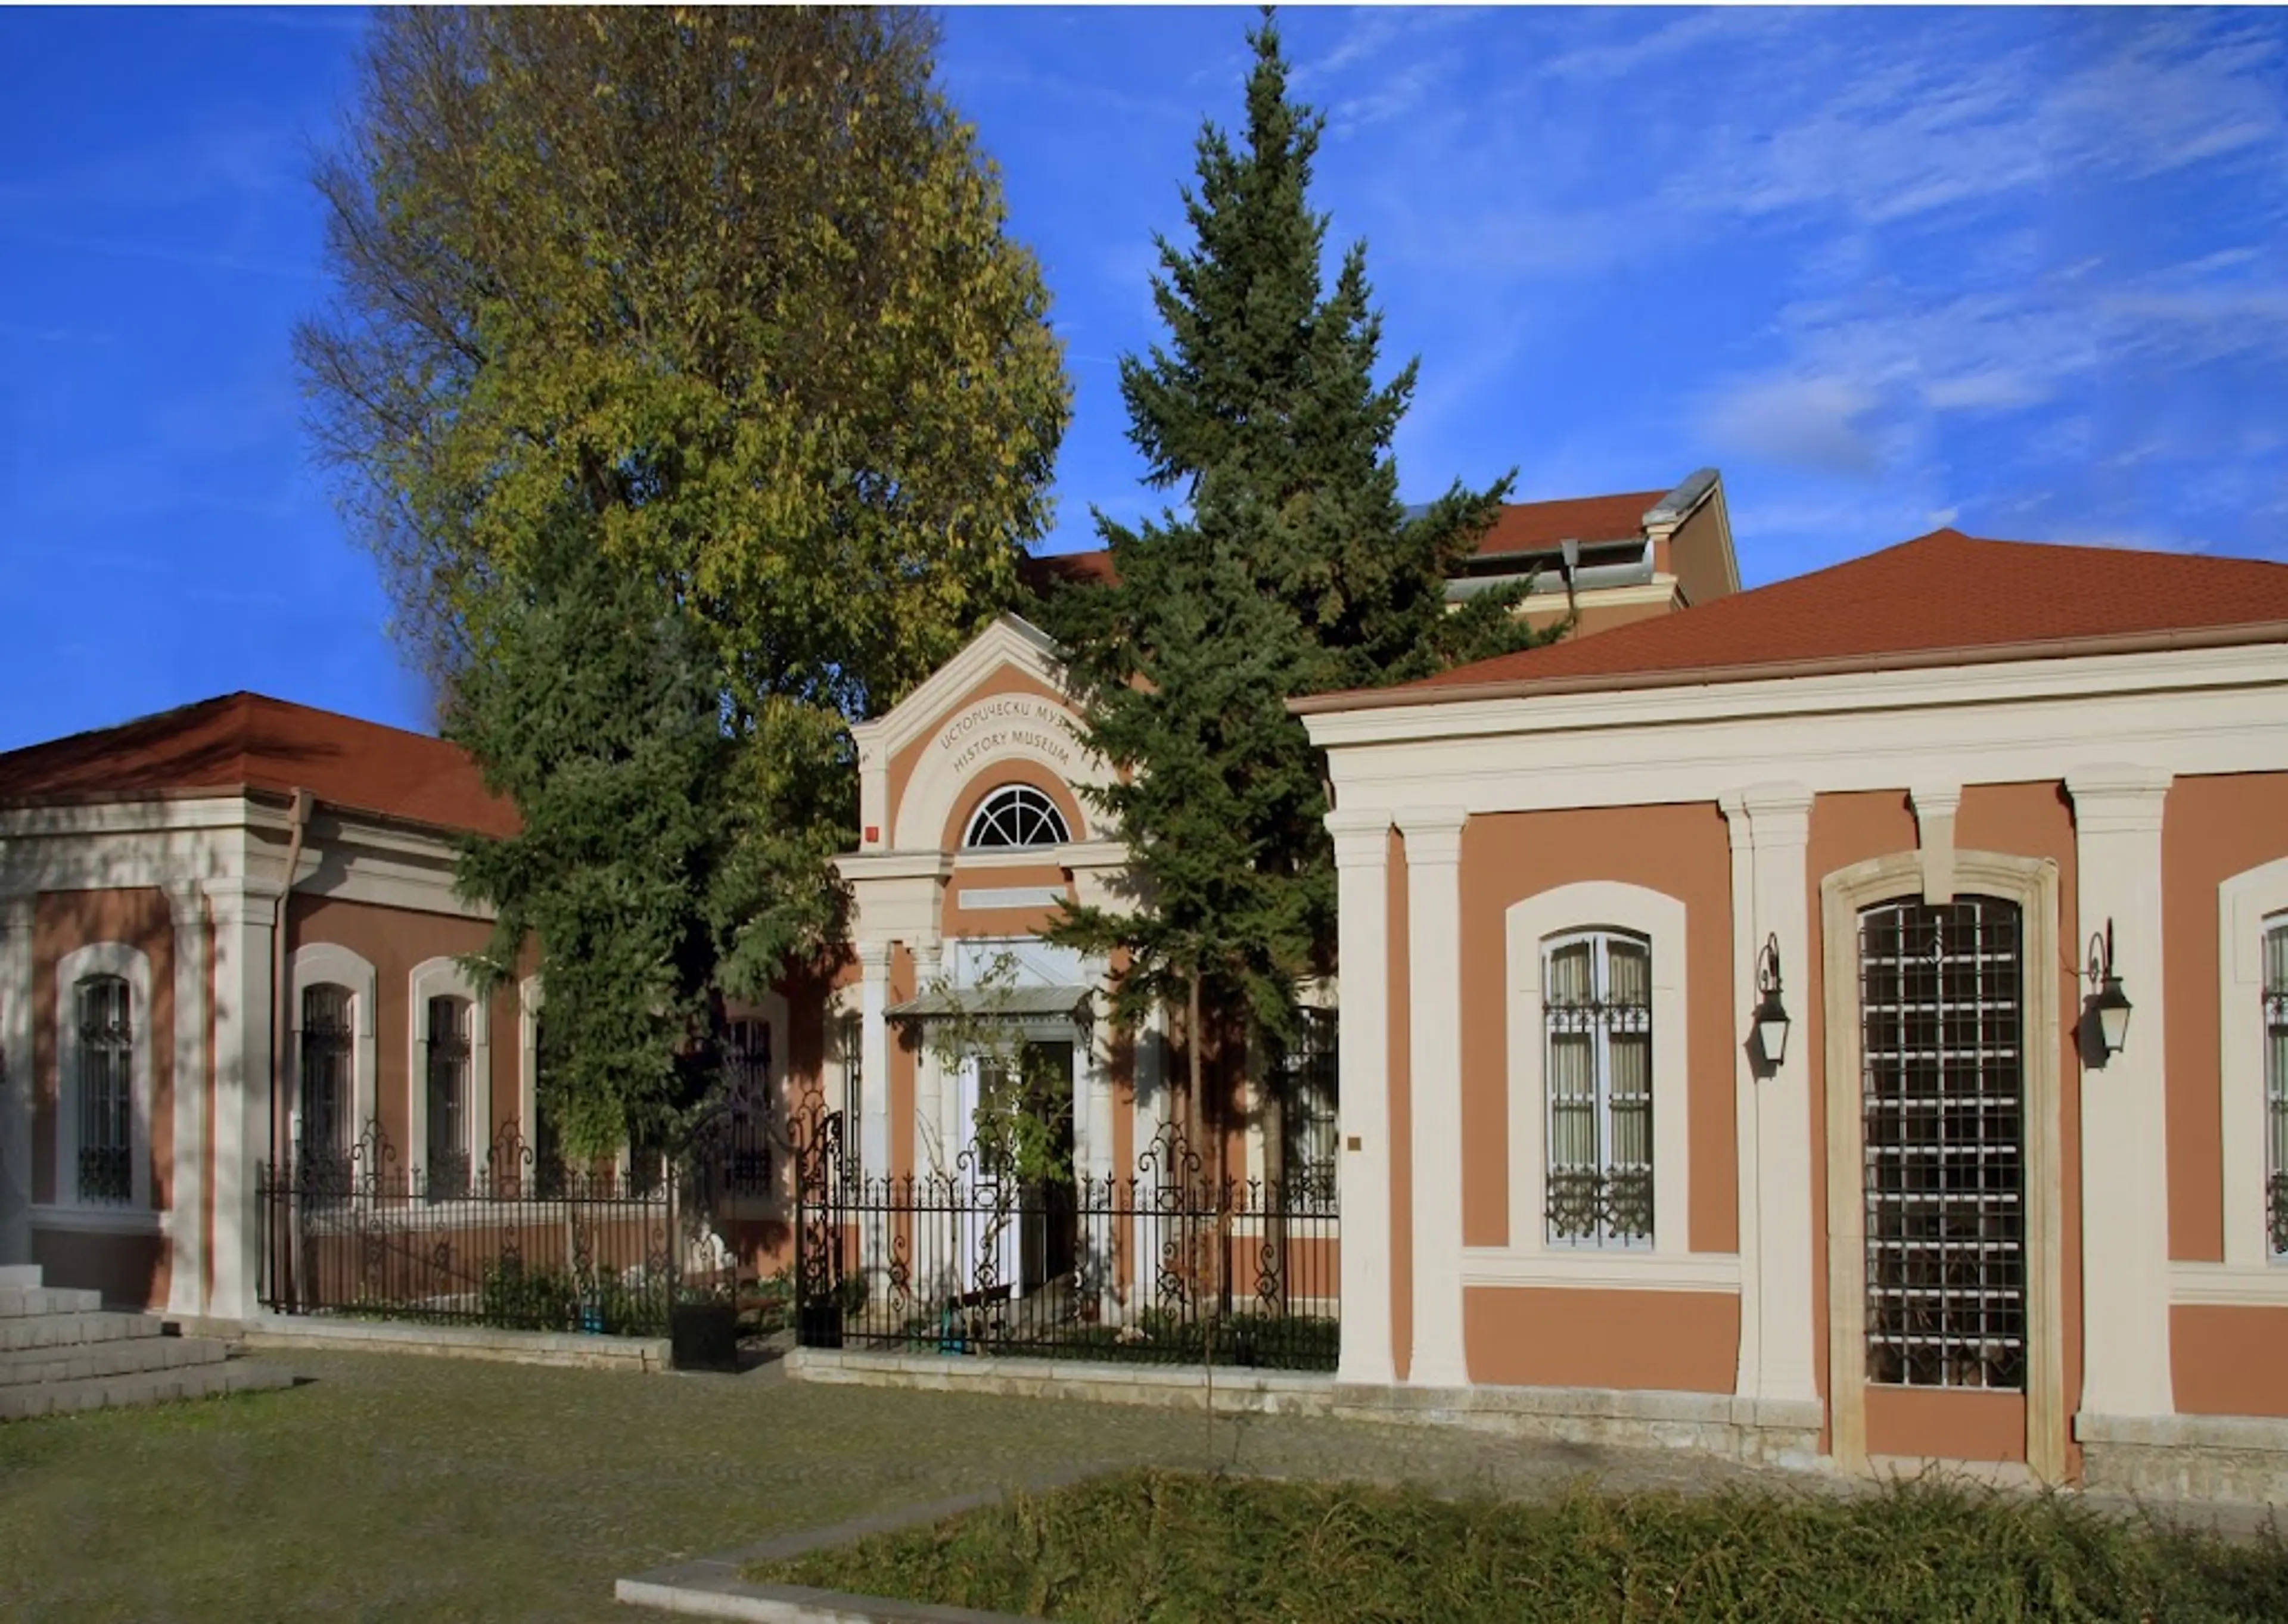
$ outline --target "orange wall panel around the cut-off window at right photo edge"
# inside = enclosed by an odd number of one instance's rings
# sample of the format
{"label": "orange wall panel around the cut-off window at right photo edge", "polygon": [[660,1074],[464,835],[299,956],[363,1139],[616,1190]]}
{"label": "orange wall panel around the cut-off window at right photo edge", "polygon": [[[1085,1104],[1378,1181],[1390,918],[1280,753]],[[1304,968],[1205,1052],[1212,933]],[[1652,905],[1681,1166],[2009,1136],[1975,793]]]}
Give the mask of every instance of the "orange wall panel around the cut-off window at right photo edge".
{"label": "orange wall panel around the cut-off window at right photo edge", "polygon": [[[2224,1260],[2217,885],[2281,855],[2288,855],[2288,773],[2180,778],[2169,787],[2160,828],[2169,1256],[2185,1263]],[[2247,1018],[2261,1013],[2249,1009]],[[2178,1391],[2183,1404],[2183,1379]]]}

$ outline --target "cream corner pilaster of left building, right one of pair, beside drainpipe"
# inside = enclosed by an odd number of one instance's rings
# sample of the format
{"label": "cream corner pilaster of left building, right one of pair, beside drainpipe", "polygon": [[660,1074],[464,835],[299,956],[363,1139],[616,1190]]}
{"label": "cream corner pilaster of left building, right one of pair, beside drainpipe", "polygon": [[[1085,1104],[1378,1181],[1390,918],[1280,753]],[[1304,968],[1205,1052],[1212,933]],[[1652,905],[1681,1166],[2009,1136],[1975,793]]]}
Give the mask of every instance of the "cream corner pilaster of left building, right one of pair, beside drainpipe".
{"label": "cream corner pilaster of left building, right one of pair, beside drainpipe", "polygon": [[215,920],[215,1290],[208,1313],[256,1311],[261,1215],[254,1169],[270,1157],[270,931],[281,887],[206,881]]}

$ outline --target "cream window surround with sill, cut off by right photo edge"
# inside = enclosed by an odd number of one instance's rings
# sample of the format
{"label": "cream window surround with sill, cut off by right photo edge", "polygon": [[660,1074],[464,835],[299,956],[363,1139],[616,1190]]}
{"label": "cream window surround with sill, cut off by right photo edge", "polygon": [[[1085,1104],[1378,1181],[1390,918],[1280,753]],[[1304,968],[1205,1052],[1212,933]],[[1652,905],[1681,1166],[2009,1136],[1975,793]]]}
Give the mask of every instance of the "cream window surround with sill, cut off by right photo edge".
{"label": "cream window surround with sill, cut off by right photo edge", "polygon": [[[2288,1306],[2288,1258],[2265,1212],[2265,926],[2288,922],[2288,858],[2217,885],[2217,1125],[2224,1157],[2224,1263],[2171,1263],[2178,1304]],[[2135,1041],[2135,1029],[2130,1034]]]}

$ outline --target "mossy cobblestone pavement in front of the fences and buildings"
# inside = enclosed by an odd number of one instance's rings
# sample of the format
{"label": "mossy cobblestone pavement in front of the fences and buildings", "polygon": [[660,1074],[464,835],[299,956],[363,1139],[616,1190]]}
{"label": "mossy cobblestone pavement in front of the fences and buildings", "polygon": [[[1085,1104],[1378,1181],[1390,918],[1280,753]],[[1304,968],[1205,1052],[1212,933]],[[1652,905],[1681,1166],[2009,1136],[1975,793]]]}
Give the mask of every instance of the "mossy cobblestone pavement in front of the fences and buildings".
{"label": "mossy cobblestone pavement in front of the fences and buildings", "polygon": [[0,1427],[0,1617],[627,1624],[611,1581],[1075,1466],[1538,1494],[1817,1484],[1682,1450],[741,1377],[279,1354],[309,1384]]}

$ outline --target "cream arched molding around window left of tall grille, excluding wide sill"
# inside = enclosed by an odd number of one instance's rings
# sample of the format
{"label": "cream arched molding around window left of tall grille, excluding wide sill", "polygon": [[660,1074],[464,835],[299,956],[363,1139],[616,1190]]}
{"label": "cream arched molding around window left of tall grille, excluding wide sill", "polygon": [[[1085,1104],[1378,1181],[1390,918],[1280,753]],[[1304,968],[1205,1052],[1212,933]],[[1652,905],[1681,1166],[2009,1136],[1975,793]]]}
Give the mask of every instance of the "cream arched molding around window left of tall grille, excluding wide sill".
{"label": "cream arched molding around window left of tall grille, excluding wide sill", "polygon": [[[1544,1180],[1549,1171],[1547,1025],[1542,1020],[1542,945],[1551,936],[1611,926],[1645,938],[1652,952],[1652,1247],[1640,1253],[1599,1247],[1551,1247],[1547,1240]],[[1684,903],[1668,892],[1620,881],[1556,885],[1510,903],[1503,915],[1508,947],[1506,1027],[1510,1098],[1510,1240],[1473,1249],[1528,1260],[1574,1256],[1691,1253],[1691,1043],[1686,1038]],[[1734,1285],[1737,1285],[1734,1274]]]}

